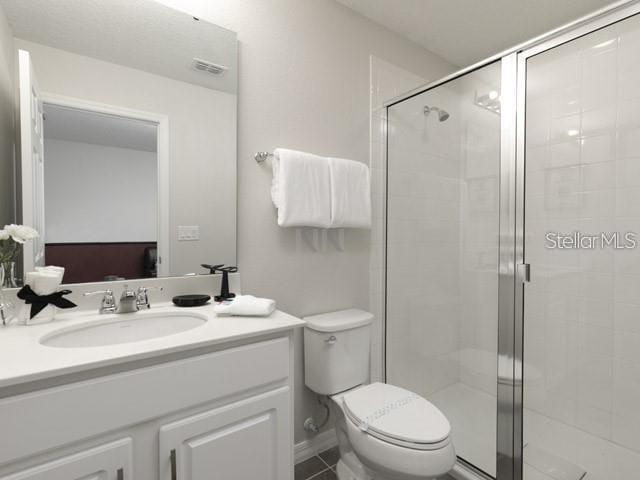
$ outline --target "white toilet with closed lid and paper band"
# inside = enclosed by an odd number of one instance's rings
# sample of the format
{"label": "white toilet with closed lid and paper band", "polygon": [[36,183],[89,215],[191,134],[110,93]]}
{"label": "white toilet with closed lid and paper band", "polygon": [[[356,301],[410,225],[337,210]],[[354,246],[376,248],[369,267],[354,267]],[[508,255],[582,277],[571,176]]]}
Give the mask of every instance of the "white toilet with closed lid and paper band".
{"label": "white toilet with closed lid and paper band", "polygon": [[330,396],[340,480],[424,480],[451,470],[447,418],[421,396],[369,380],[373,315],[356,309],[306,317],[305,383]]}

